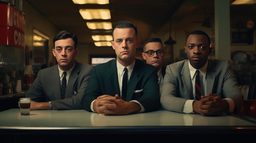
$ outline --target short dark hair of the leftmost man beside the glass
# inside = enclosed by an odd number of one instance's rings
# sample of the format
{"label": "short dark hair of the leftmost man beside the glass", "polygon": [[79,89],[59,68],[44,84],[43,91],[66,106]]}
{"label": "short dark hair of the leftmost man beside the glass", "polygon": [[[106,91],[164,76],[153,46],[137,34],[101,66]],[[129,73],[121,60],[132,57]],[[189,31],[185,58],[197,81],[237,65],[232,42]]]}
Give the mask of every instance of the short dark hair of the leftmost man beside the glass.
{"label": "short dark hair of the leftmost man beside the glass", "polygon": [[71,38],[74,41],[74,46],[76,49],[77,36],[75,34],[71,33],[70,31],[66,31],[66,30],[61,31],[55,35],[55,37],[53,38],[53,48],[55,48],[55,41],[61,40],[61,39],[67,39],[67,38]]}

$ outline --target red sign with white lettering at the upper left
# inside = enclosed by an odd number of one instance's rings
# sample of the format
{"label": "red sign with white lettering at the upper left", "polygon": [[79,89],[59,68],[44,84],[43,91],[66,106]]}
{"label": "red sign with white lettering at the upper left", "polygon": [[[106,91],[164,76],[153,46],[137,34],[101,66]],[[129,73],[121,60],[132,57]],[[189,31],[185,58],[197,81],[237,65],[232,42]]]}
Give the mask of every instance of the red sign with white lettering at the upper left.
{"label": "red sign with white lettering at the upper left", "polygon": [[25,14],[0,3],[0,44],[25,49]]}

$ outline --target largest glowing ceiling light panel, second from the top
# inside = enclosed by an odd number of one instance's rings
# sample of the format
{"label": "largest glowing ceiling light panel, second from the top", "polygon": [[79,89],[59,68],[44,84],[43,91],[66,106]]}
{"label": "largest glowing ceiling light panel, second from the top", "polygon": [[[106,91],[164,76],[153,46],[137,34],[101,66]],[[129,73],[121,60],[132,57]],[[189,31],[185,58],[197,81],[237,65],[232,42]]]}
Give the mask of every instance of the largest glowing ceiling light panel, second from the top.
{"label": "largest glowing ceiling light panel, second from the top", "polygon": [[79,13],[85,20],[92,20],[92,19],[109,20],[109,19],[111,19],[109,9],[80,9]]}

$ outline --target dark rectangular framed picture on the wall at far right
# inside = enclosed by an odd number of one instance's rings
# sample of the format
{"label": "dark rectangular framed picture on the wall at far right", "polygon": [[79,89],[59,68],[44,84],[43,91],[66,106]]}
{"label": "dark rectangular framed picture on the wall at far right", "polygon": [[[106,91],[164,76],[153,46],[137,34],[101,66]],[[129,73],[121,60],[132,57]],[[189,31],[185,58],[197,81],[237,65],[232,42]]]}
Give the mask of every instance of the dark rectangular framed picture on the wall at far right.
{"label": "dark rectangular framed picture on the wall at far right", "polygon": [[253,44],[253,32],[233,31],[231,32],[231,45]]}

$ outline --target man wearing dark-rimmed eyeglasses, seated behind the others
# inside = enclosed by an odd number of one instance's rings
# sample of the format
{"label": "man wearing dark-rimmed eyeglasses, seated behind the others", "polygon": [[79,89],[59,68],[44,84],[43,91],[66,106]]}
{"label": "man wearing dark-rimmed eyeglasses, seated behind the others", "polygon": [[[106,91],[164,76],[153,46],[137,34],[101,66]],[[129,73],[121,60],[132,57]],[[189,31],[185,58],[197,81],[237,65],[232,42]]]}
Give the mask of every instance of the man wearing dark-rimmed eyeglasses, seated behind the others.
{"label": "man wearing dark-rimmed eyeglasses, seated behind the others", "polygon": [[157,67],[158,70],[158,84],[161,91],[162,80],[165,75],[164,62],[164,46],[162,40],[159,38],[150,38],[143,45],[143,52],[141,53],[143,59],[146,60],[147,64],[151,64]]}

